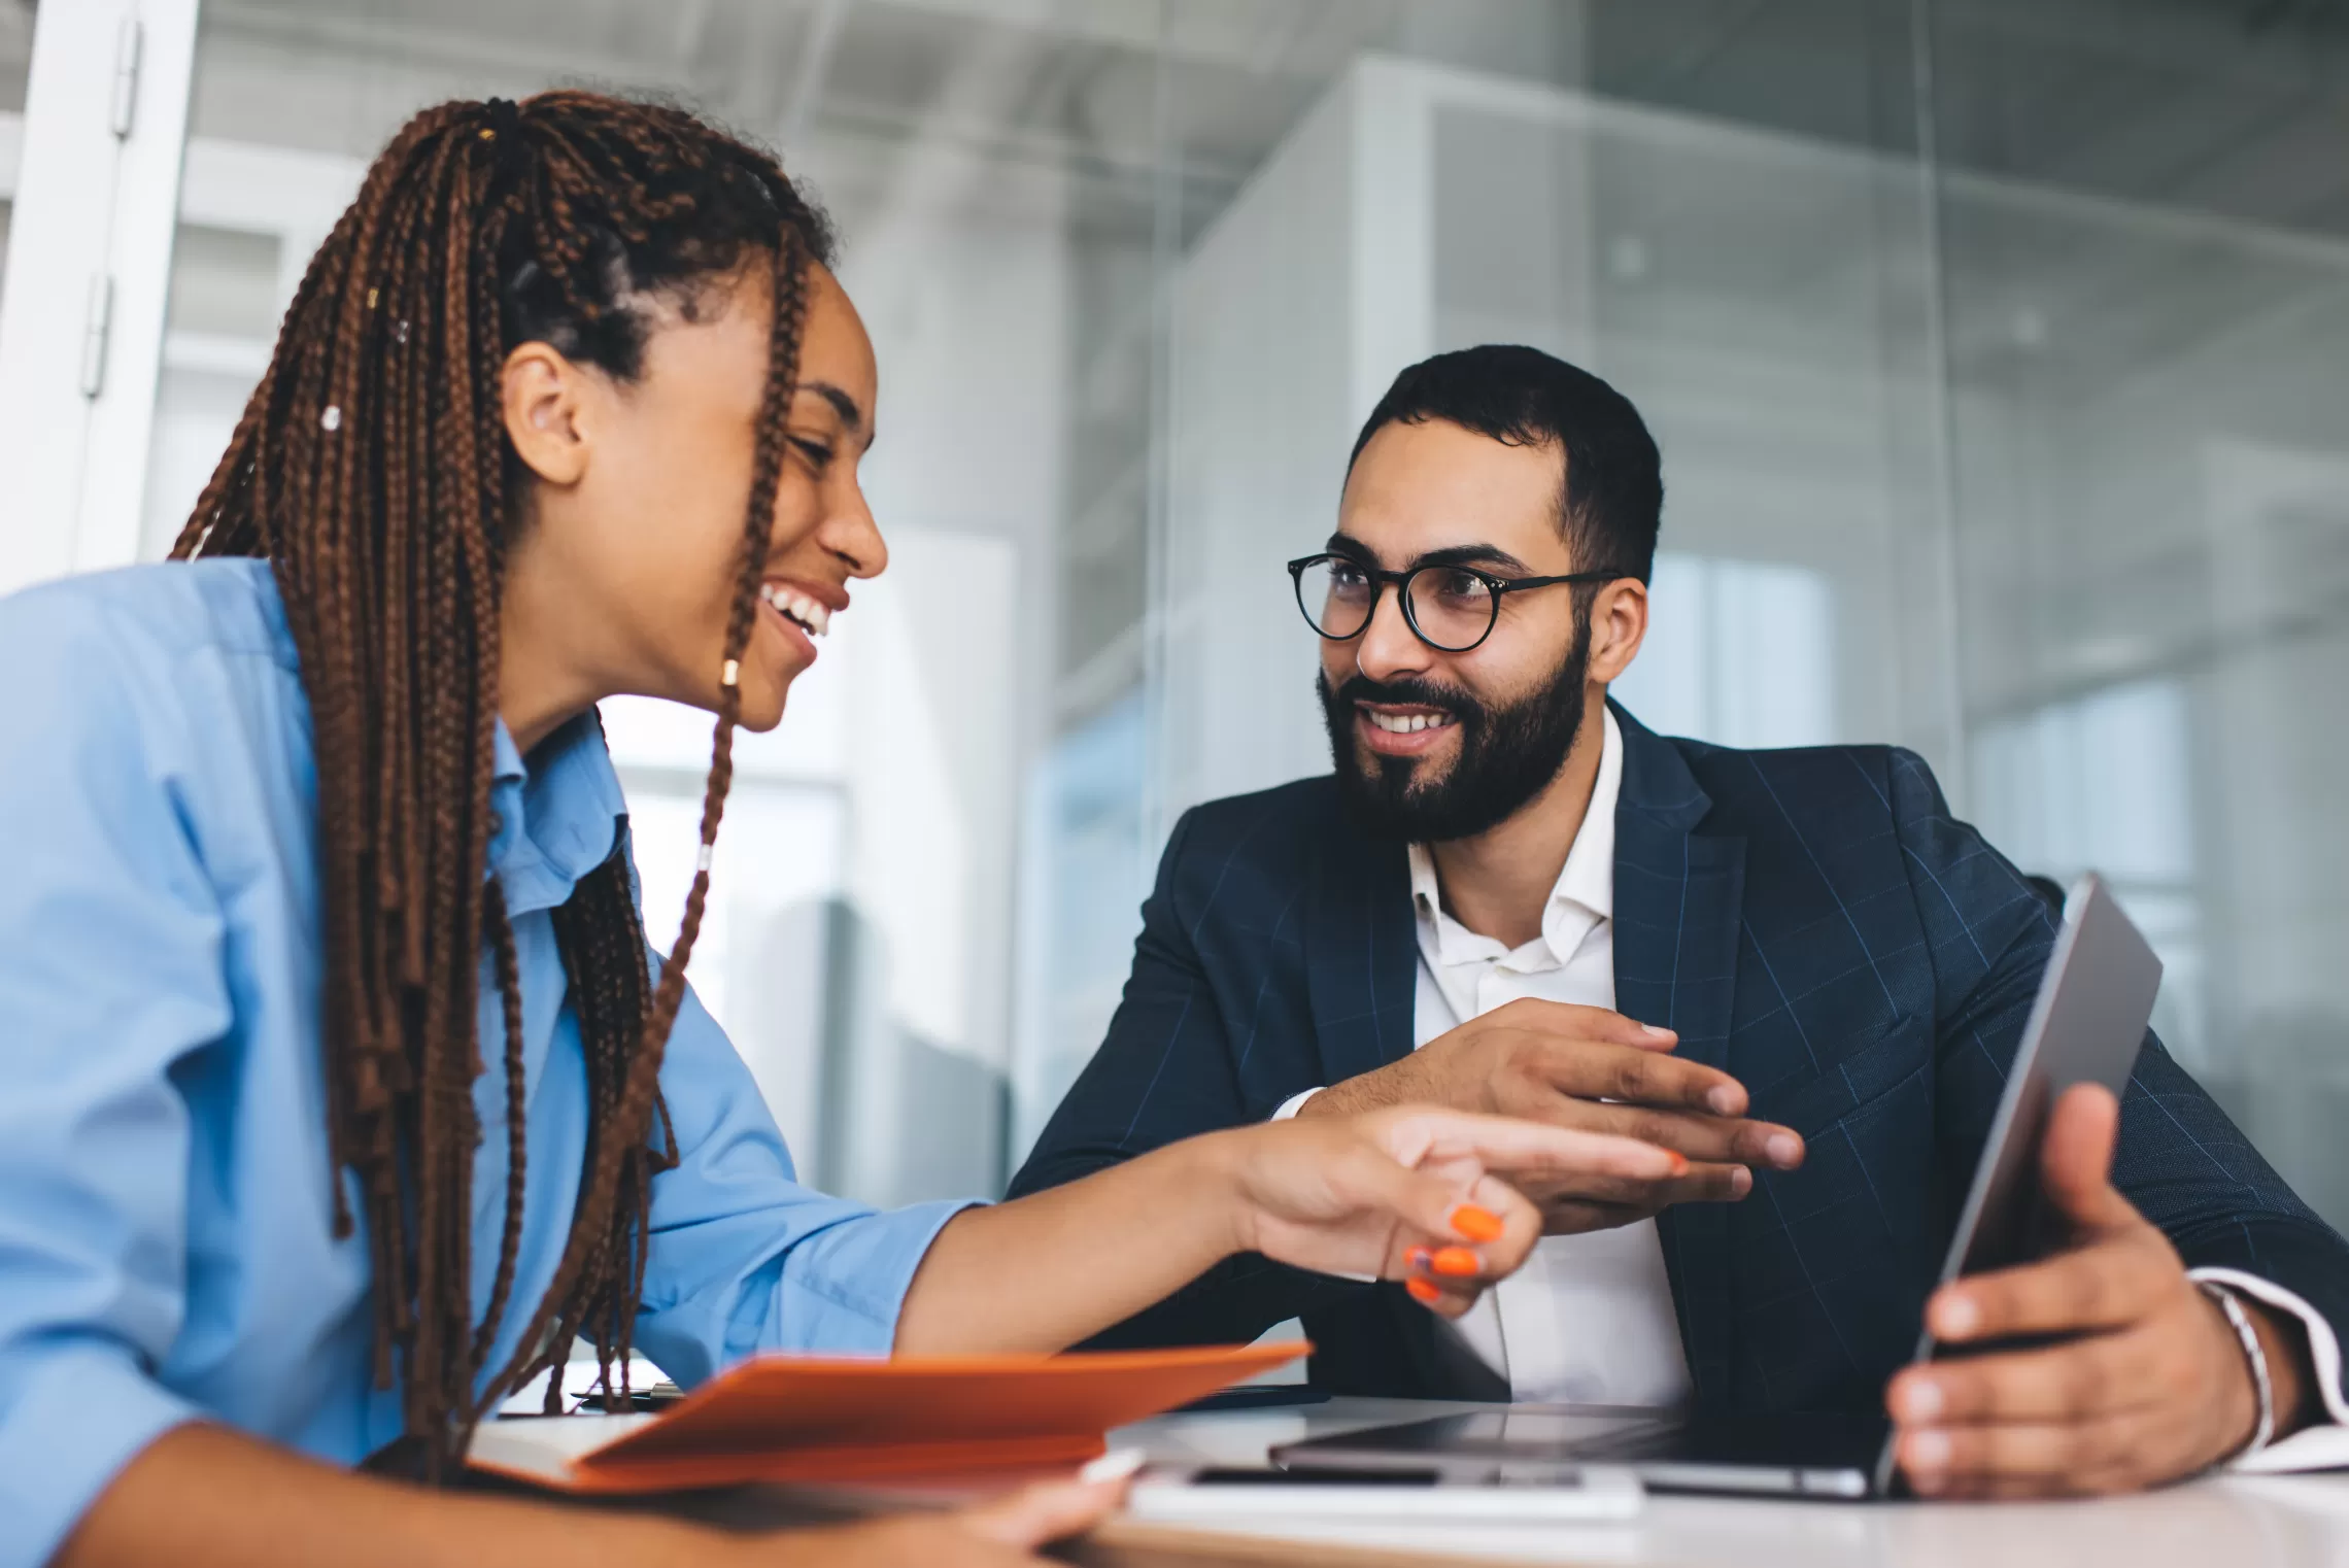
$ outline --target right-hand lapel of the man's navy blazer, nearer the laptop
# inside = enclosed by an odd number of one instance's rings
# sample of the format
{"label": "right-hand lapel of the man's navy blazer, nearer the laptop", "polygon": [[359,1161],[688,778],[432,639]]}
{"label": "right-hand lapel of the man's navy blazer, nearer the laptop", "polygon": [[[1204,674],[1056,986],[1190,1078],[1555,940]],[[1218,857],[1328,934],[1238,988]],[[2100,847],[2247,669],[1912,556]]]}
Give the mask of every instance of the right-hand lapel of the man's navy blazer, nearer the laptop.
{"label": "right-hand lapel of the man's navy blazer, nearer the laptop", "polygon": [[[1616,1012],[1680,1033],[1680,1054],[1719,1068],[1729,1056],[1745,840],[1698,833],[1710,796],[1680,749],[1616,709],[1623,793],[1616,800]],[[1729,1397],[1734,1303],[1729,1209],[1687,1204],[1656,1221],[1698,1404]]]}

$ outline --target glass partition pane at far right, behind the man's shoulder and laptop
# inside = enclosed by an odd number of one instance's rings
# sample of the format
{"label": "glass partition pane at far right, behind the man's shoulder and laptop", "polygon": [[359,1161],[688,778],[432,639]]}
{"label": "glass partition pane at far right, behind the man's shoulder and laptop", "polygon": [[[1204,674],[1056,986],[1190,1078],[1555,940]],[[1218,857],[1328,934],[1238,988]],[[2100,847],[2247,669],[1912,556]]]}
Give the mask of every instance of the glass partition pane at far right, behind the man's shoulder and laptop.
{"label": "glass partition pane at far right, behind the man's shoulder and laptop", "polygon": [[2316,7],[1936,9],[1971,807],[2349,1221],[2349,66]]}

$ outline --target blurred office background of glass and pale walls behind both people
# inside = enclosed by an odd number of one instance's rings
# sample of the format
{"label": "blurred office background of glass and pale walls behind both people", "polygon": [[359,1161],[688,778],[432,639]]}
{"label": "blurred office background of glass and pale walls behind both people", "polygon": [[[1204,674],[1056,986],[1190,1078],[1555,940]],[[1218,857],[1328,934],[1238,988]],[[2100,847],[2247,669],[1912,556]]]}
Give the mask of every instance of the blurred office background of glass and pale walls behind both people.
{"label": "blurred office background of glass and pale walls behind both people", "polygon": [[[78,420],[14,437],[59,479],[9,582],[160,554],[366,157],[554,82],[778,146],[881,354],[895,566],[742,756],[695,958],[817,1178],[996,1188],[1174,815],[1325,765],[1280,563],[1358,420],[1525,340],[1663,444],[1626,702],[1910,744],[2105,871],[2173,1049],[2349,1221],[2349,7],[0,0],[0,406]],[[660,934],[707,725],[611,728]]]}

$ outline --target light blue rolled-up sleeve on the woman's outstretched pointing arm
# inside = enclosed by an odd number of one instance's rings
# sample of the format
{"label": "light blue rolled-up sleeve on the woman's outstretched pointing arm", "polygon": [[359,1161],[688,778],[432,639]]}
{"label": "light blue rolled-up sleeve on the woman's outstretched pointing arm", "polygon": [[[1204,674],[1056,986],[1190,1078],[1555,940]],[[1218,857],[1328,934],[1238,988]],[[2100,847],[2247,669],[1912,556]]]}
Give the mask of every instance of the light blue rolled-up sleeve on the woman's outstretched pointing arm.
{"label": "light blue rolled-up sleeve on the woman's outstretched pointing arm", "polygon": [[874,1211],[799,1185],[756,1080],[691,993],[660,1089],[679,1164],[653,1181],[637,1347],[686,1387],[768,1350],[888,1354],[914,1270],[975,1199]]}

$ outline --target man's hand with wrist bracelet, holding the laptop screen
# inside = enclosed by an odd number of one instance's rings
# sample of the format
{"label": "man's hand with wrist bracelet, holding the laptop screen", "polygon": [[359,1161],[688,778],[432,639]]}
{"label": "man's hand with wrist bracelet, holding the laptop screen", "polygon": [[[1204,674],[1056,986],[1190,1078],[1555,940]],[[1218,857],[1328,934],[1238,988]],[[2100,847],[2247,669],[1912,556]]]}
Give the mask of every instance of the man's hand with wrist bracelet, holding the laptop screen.
{"label": "man's hand with wrist bracelet, holding the laptop screen", "polygon": [[[2079,1084],[2041,1148],[2072,1246],[2041,1263],[1943,1286],[1936,1338],[1968,1345],[2077,1336],[2041,1350],[1910,1366],[1886,1408],[1900,1469],[1933,1498],[2121,1493],[2206,1469],[2250,1441],[2257,1392],[2243,1343],[2187,1279],[2178,1251],[2112,1188],[2121,1108]],[[2246,1303],[2267,1350],[2276,1437],[2307,1422],[2307,1336]]]}

